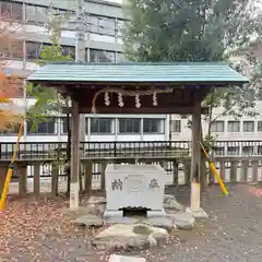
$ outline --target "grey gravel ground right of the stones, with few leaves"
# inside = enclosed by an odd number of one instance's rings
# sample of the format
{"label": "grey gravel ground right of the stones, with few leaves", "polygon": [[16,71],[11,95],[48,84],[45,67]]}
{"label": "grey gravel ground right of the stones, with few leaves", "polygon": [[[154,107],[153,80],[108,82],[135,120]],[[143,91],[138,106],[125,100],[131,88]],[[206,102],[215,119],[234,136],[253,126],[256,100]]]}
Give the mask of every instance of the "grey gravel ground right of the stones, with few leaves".
{"label": "grey gravel ground right of the stones, with few leaves", "polygon": [[237,184],[229,192],[225,198],[218,187],[209,189],[203,206],[210,219],[193,231],[179,231],[177,243],[145,252],[146,261],[262,261],[262,190]]}

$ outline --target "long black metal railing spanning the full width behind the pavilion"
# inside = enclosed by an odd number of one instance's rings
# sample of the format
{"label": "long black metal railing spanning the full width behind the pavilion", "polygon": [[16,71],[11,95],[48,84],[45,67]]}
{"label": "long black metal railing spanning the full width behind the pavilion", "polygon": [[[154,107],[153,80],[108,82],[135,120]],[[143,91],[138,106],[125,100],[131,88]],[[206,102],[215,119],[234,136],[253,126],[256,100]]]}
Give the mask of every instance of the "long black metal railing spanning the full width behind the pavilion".
{"label": "long black metal railing spanning the full width behind the pavilion", "polygon": [[[0,159],[12,157],[15,143],[0,143]],[[190,141],[81,142],[83,159],[94,158],[176,158],[191,155]],[[217,141],[215,156],[262,156],[262,141]],[[66,142],[25,142],[19,144],[17,159],[52,160],[66,158]]]}

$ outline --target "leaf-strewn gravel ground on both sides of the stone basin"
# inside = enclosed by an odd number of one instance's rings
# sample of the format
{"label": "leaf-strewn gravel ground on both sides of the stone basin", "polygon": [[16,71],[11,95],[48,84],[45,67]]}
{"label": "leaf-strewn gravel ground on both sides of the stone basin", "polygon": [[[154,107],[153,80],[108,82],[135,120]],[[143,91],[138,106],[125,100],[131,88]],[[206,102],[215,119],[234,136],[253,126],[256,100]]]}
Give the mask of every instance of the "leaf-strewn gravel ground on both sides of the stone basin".
{"label": "leaf-strewn gravel ground on both sides of the stone basin", "polygon": [[[199,222],[193,231],[176,231],[169,245],[127,255],[146,258],[146,262],[262,261],[262,191],[254,186],[229,187],[222,196],[214,186],[203,195],[210,219]],[[168,193],[189,200],[186,188]],[[0,261],[106,261],[108,253],[91,248],[94,230],[78,228],[61,209],[67,203],[33,198],[12,200],[0,214]]]}

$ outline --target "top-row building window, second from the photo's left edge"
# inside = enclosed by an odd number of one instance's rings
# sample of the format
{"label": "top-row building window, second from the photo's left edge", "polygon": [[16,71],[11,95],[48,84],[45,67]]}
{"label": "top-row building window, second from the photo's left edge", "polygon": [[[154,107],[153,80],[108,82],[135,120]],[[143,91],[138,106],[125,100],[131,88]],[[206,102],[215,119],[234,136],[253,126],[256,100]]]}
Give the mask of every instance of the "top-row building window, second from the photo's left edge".
{"label": "top-row building window, second from the photo's left edge", "polygon": [[48,9],[38,5],[25,5],[26,22],[43,25],[48,22]]}

